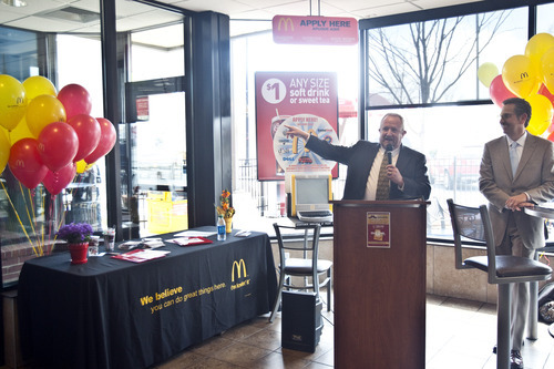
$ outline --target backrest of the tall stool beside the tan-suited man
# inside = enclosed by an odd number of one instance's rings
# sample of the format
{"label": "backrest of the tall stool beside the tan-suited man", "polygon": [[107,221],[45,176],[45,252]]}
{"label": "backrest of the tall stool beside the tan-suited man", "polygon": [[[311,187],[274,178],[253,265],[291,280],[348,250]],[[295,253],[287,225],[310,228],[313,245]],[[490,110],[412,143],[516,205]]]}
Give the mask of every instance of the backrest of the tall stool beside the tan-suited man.
{"label": "backrest of the tall stool beside the tan-suited man", "polygon": [[497,283],[496,249],[492,233],[491,219],[485,205],[470,207],[454,204],[452,198],[447,199],[452,230],[454,233],[454,258],[456,269],[472,268],[463,262],[462,237],[484,242],[486,244],[489,283]]}

